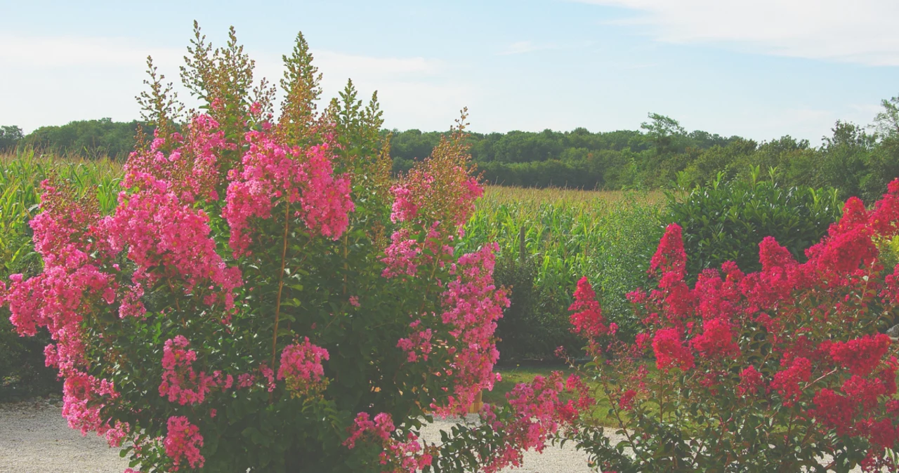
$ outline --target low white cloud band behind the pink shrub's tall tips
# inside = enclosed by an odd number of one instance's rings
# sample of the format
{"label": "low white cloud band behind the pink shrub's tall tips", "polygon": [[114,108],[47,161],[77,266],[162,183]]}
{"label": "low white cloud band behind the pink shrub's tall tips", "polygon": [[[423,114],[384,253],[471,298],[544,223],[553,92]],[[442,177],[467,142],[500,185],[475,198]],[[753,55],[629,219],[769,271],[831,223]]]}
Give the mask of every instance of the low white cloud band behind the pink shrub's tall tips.
{"label": "low white cloud band behind the pink shrub's tall tips", "polygon": [[[280,54],[256,51],[255,76],[278,83]],[[139,118],[134,96],[147,55],[159,72],[174,82],[179,98],[196,107],[178,80],[186,48],[158,48],[129,38],[13,36],[0,33],[0,123],[20,125],[25,132],[70,120],[111,117]],[[360,99],[378,91],[388,127],[445,129],[458,109],[471,105],[476,88],[465,71],[425,57],[367,57],[331,50],[312,50],[324,74],[324,99],[330,100],[352,78]],[[28,91],[28,93],[22,93]],[[398,118],[398,119],[397,119]]]}

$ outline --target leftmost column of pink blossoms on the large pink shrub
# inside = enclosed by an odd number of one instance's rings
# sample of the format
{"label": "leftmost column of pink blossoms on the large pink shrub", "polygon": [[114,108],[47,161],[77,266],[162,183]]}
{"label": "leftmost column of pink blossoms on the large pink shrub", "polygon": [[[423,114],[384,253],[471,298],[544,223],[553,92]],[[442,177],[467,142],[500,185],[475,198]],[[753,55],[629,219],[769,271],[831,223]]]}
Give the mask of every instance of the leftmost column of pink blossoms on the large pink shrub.
{"label": "leftmost column of pink blossoms on the large pink shrub", "polygon": [[[102,253],[100,215],[65,189],[42,183],[43,212],[31,220],[35,250],[44,258],[43,272],[25,280],[10,276],[11,285],[0,293],[0,302],[12,312],[10,320],[22,335],[33,336],[38,327],[48,328],[55,344],[45,348],[46,363],[59,370],[63,384],[63,416],[70,427],[96,431],[111,444],[119,444],[129,425],[110,424],[101,416],[104,403],[118,398],[111,382],[86,373],[85,313],[94,306],[114,302],[117,286],[111,267],[92,258]],[[114,269],[113,269],[114,270]]]}

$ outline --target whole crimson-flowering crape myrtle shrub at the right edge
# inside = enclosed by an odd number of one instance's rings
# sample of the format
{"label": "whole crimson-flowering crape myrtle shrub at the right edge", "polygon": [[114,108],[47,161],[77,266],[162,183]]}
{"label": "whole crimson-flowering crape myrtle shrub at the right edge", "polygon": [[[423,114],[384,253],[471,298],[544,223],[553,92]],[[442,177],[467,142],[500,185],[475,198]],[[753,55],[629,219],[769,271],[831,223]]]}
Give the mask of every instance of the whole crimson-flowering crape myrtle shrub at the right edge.
{"label": "whole crimson-flowering crape myrtle shrub at the right edge", "polygon": [[571,321],[594,359],[584,371],[628,440],[611,445],[589,419],[568,437],[619,473],[895,471],[899,360],[879,331],[899,304],[899,266],[880,249],[897,233],[894,180],[872,209],[850,198],[806,262],[766,237],[759,271],[727,261],[690,285],[672,223],[652,258],[657,288],[628,294],[636,343],[616,339],[586,278],[574,293]]}

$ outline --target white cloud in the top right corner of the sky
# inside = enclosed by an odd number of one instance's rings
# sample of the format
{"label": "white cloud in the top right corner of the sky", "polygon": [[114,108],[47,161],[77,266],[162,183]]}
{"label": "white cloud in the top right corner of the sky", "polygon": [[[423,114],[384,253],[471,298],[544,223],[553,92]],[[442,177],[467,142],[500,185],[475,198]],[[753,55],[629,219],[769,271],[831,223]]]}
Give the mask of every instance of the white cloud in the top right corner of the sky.
{"label": "white cloud in the top right corner of the sky", "polygon": [[899,66],[895,0],[574,0],[642,12],[618,21],[672,43],[721,43],[763,54]]}

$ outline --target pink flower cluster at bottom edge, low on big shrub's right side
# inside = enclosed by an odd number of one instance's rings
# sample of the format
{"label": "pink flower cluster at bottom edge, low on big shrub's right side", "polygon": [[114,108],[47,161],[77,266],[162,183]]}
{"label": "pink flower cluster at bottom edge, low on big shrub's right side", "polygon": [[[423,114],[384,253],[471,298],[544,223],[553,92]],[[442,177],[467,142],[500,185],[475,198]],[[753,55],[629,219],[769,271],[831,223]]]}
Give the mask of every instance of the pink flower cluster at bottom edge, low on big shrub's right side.
{"label": "pink flower cluster at bottom edge, low on big shrub's right side", "polygon": [[360,440],[381,445],[380,463],[384,473],[415,473],[432,463],[431,449],[423,449],[414,433],[406,434],[405,441],[393,438],[396,427],[389,414],[382,412],[372,420],[369,413],[360,412],[347,430],[350,436],[343,445],[348,449],[355,448]]}

